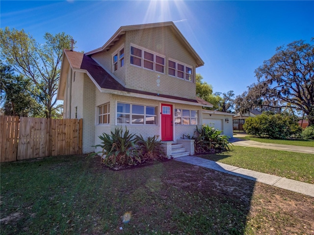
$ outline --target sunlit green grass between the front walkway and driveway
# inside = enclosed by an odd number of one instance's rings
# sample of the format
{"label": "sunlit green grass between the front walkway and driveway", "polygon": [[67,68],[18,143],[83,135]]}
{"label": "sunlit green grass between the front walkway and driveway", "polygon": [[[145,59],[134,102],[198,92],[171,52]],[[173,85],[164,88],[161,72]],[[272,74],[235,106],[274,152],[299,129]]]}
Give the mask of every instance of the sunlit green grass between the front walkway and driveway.
{"label": "sunlit green grass between the front walkway and driveway", "polygon": [[200,157],[314,184],[314,156],[312,154],[243,146],[232,146],[232,148],[233,150],[229,152],[200,155]]}

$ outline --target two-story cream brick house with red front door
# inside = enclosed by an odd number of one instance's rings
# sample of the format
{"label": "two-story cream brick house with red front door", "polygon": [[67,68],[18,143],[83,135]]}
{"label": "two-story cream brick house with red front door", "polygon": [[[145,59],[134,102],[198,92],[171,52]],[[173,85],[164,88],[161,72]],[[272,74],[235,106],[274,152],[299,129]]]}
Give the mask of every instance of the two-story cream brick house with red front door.
{"label": "two-story cream brick house with red front door", "polygon": [[168,156],[194,154],[181,137],[202,125],[202,107],[212,107],[196,96],[195,70],[203,65],[173,22],[122,26],[103,47],[64,50],[57,99],[63,118],[83,118],[83,153],[95,150],[102,133],[127,127],[156,135]]}

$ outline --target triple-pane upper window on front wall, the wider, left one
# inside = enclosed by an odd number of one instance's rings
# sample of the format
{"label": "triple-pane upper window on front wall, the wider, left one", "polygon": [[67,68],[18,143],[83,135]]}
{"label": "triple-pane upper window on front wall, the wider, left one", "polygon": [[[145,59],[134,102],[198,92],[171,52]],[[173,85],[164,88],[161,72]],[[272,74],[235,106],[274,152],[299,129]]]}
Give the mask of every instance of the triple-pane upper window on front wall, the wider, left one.
{"label": "triple-pane upper window on front wall, the wider, left one", "polygon": [[141,47],[131,46],[131,65],[164,73],[165,58]]}

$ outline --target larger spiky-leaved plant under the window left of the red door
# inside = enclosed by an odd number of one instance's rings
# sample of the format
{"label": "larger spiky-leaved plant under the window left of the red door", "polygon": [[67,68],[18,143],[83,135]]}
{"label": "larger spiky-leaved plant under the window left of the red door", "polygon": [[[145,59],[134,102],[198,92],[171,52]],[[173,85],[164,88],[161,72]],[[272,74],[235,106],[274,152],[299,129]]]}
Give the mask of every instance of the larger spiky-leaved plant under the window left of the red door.
{"label": "larger spiky-leaved plant under the window left of the red door", "polygon": [[141,163],[134,136],[129,134],[127,128],[124,134],[122,128],[116,128],[115,132],[111,131],[111,135],[103,133],[103,136],[99,136],[102,143],[95,145],[101,147],[102,151],[95,154],[102,153],[102,163],[113,168]]}

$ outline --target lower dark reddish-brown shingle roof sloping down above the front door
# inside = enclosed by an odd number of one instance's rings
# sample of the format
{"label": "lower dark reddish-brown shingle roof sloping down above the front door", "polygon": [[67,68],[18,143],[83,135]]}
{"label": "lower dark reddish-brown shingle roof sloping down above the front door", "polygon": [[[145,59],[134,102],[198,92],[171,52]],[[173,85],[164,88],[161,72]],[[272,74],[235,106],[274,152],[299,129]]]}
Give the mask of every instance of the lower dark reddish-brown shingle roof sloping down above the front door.
{"label": "lower dark reddish-brown shingle roof sloping down above the front door", "polygon": [[[209,102],[201,99],[188,99],[173,95],[167,95],[167,94],[157,94],[152,92],[144,92],[139,90],[134,90],[130,88],[126,88],[123,85],[121,85],[116,79],[114,79],[103,67],[101,67],[96,61],[94,61],[91,57],[77,52],[77,51],[71,51],[71,50],[64,50],[63,51],[63,61],[61,65],[61,77],[59,81],[59,88],[57,93],[57,99],[64,99],[64,91],[66,87],[66,76],[67,73],[65,71],[68,70],[69,66],[73,70],[78,70],[82,72],[86,72],[88,76],[91,78],[91,80],[94,82],[96,87],[102,92],[106,91],[118,91],[119,94],[139,94],[139,95],[149,95],[149,96],[155,96],[165,98],[165,99],[173,99],[173,100],[180,100],[184,102],[194,103],[195,105],[201,105],[206,107],[212,107],[212,104]],[[64,71],[64,72],[62,72]],[[114,94],[113,92],[111,92]],[[159,98],[159,99],[160,99]]]}

